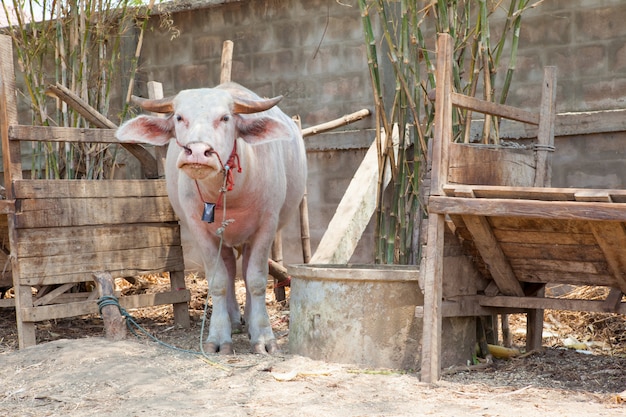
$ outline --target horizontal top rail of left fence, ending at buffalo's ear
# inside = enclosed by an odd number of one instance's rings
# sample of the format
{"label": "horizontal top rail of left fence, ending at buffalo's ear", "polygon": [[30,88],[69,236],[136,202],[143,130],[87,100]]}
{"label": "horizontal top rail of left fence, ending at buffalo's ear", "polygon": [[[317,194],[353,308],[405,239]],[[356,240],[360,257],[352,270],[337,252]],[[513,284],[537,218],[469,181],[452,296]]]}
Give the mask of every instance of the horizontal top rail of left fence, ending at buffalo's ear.
{"label": "horizontal top rail of left fence, ending at buffalo's ear", "polygon": [[112,143],[120,145],[114,129],[12,125],[9,137],[16,141]]}

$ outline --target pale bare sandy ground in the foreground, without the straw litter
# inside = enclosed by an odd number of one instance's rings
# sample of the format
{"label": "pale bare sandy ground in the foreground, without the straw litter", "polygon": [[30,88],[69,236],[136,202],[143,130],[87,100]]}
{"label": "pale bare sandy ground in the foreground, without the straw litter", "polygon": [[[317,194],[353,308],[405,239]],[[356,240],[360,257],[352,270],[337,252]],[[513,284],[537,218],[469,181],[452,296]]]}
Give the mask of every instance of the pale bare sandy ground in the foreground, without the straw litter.
{"label": "pale bare sandy ground in the foreground, without the straw litter", "polygon": [[623,416],[610,394],[490,386],[300,356],[212,358],[155,344],[58,340],[0,356],[6,416]]}

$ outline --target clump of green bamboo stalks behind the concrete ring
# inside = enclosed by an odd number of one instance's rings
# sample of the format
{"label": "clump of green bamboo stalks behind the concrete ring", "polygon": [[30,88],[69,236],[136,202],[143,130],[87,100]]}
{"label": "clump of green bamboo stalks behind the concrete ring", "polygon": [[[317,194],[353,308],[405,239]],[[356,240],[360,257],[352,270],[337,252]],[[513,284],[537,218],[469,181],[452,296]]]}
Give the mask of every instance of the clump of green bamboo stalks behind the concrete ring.
{"label": "clump of green bamboo stalks behind the concrete ring", "polygon": [[[436,86],[431,50],[422,26],[450,33],[454,38],[452,78],[454,88],[472,96],[483,86],[483,97],[489,101],[505,98],[514,68],[507,74],[507,83],[496,94],[495,76],[498,63],[513,34],[512,65],[519,41],[519,16],[528,0],[510,0],[509,21],[498,39],[491,39],[489,18],[503,2],[433,0],[422,6],[410,0],[359,0],[368,68],[376,111],[376,144],[379,151],[379,194],[376,208],[376,262],[419,262],[419,219],[424,208],[420,201],[420,169],[428,162],[428,140],[432,135],[434,105],[427,100],[426,91]],[[476,10],[472,7],[476,5]],[[421,9],[419,7],[422,7]],[[377,36],[373,21],[378,18]],[[379,56],[378,43],[386,48],[386,56]],[[492,49],[492,43],[495,48]],[[383,59],[395,76],[395,90],[383,94]],[[466,70],[469,68],[469,71]],[[468,77],[469,75],[469,77]],[[467,78],[467,79],[466,79]],[[504,95],[503,95],[504,94]],[[472,114],[461,108],[452,113],[452,134],[469,142]],[[399,127],[400,149],[413,145],[413,158],[403,152],[396,155],[390,143],[381,143],[380,133],[390,138],[390,126]],[[497,121],[486,120],[484,140],[498,142]],[[384,167],[390,164],[392,183],[383,196],[380,184]],[[419,232],[418,232],[419,233]]]}

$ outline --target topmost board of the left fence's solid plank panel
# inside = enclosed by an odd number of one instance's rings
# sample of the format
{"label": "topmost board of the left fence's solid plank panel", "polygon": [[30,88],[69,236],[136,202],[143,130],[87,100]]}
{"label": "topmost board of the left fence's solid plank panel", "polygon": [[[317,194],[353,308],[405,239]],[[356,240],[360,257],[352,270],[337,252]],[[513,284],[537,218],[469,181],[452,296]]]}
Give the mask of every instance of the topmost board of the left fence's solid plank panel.
{"label": "topmost board of the left fence's solid plank panel", "polygon": [[13,184],[15,197],[116,198],[167,196],[165,180],[21,180]]}

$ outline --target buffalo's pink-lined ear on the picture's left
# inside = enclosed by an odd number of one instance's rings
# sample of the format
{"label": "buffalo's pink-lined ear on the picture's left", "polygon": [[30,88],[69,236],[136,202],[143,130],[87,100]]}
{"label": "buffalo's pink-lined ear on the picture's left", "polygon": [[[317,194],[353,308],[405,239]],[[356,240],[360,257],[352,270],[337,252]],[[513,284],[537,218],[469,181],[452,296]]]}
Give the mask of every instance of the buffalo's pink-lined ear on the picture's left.
{"label": "buffalo's pink-lined ear on the picture's left", "polygon": [[138,116],[121,125],[115,137],[120,142],[165,145],[174,137],[174,124],[171,116]]}

